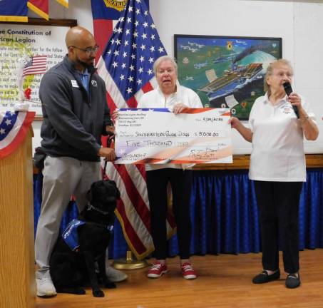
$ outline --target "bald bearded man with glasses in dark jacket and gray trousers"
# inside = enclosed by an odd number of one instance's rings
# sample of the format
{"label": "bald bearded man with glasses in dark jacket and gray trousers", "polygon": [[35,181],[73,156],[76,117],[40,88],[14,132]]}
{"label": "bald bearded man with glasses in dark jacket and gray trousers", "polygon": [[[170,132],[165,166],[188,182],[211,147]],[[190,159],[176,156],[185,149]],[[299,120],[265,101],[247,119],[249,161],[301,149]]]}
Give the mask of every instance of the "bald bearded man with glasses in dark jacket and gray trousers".
{"label": "bald bearded man with glasses in dark jacket and gray trousers", "polygon": [[[114,128],[105,83],[93,66],[98,51],[96,40],[88,30],[76,26],[68,30],[65,41],[68,54],[43,76],[39,88],[43,111],[41,151],[46,154],[35,240],[39,297],[56,295],[49,260],[71,195],[76,197],[81,212],[91,184],[101,180],[100,157],[116,158],[113,149],[101,145],[101,135],[113,133]],[[112,267],[107,267],[107,276],[112,282],[127,278]]]}

